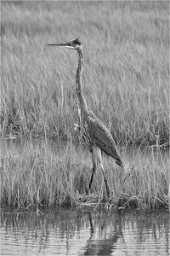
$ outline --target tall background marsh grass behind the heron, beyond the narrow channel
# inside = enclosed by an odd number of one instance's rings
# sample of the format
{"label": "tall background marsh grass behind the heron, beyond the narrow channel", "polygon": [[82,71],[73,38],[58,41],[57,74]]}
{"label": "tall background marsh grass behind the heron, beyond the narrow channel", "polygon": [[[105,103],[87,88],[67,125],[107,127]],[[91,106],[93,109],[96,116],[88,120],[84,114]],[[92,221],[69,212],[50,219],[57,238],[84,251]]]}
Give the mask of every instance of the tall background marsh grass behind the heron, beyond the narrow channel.
{"label": "tall background marsh grass behind the heron, beyond the narrow channel", "polygon": [[77,139],[77,54],[44,45],[80,36],[84,95],[116,143],[156,143],[156,136],[167,143],[168,7],[166,1],[2,2],[3,136]]}

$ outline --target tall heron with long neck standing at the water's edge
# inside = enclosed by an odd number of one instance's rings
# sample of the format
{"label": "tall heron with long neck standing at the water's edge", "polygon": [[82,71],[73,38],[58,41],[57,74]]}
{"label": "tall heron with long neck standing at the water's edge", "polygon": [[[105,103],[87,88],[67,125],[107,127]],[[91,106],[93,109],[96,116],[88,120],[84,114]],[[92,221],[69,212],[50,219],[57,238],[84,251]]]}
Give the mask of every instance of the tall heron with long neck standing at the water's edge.
{"label": "tall heron with long neck standing at the water's edge", "polygon": [[[79,130],[82,136],[85,138],[85,142],[88,145],[88,149],[92,157],[92,174],[88,185],[88,191],[91,191],[91,185],[94,180],[94,173],[97,167],[101,167],[103,173],[105,190],[107,197],[110,196],[110,189],[105,175],[105,169],[103,165],[103,152],[110,155],[118,166],[122,166],[122,158],[116,148],[116,143],[111,136],[111,132],[106,128],[102,121],[94,114],[94,112],[88,107],[85,97],[82,91],[82,67],[84,64],[84,55],[82,50],[82,43],[79,38],[73,39],[65,43],[58,44],[46,44],[47,46],[56,46],[60,48],[75,49],[78,53],[78,63],[76,72],[76,91],[77,91],[77,113],[78,122],[76,129]],[[99,165],[96,164],[96,158]]]}

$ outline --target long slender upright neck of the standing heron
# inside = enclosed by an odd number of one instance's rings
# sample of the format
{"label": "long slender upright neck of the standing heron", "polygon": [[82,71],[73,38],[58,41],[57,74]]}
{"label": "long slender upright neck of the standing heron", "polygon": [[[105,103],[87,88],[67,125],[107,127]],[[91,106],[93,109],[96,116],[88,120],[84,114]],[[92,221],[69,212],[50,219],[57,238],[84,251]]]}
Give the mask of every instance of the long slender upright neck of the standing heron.
{"label": "long slender upright neck of the standing heron", "polygon": [[76,90],[77,90],[77,101],[80,102],[80,106],[85,106],[86,101],[82,93],[82,66],[83,66],[83,52],[82,49],[78,51],[78,65],[76,73]]}

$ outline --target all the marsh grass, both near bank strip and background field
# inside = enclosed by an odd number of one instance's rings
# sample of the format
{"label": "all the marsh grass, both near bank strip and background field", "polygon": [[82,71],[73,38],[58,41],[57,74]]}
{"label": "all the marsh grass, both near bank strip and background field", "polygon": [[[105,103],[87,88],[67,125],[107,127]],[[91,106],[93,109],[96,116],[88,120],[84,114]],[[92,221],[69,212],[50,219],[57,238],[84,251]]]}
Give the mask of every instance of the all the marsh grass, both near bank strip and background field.
{"label": "all the marsh grass, both near bank strip and background field", "polygon": [[[82,146],[75,148],[77,55],[45,44],[80,36],[84,96],[118,148],[168,145],[168,7],[168,2],[2,2],[1,133],[21,140],[19,150],[12,143],[2,153],[3,205],[77,205],[105,198],[99,172],[94,193],[84,195],[91,163]],[[22,143],[24,137],[29,141]],[[45,141],[44,147],[33,138]],[[52,154],[47,142],[58,140],[65,140],[65,147]],[[121,207],[167,207],[168,154],[158,148],[146,155],[146,149],[137,149],[130,160],[122,150],[126,169],[134,164],[122,191],[123,173],[105,160],[111,205],[119,199]]]}

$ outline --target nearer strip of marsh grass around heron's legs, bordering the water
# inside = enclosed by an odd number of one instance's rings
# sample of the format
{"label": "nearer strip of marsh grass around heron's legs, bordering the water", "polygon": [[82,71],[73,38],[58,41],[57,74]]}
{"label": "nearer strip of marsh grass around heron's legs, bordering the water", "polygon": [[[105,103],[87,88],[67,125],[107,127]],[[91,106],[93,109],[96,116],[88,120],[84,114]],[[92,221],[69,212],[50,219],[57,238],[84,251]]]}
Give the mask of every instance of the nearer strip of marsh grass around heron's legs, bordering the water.
{"label": "nearer strip of marsh grass around heron's legs, bordering the water", "polygon": [[[125,170],[105,158],[111,196],[106,198],[102,172],[88,183],[92,172],[87,150],[72,143],[27,142],[3,144],[1,159],[2,207],[106,207],[151,209],[168,206],[168,153],[157,150],[122,151]],[[131,174],[122,186],[127,170]]]}

